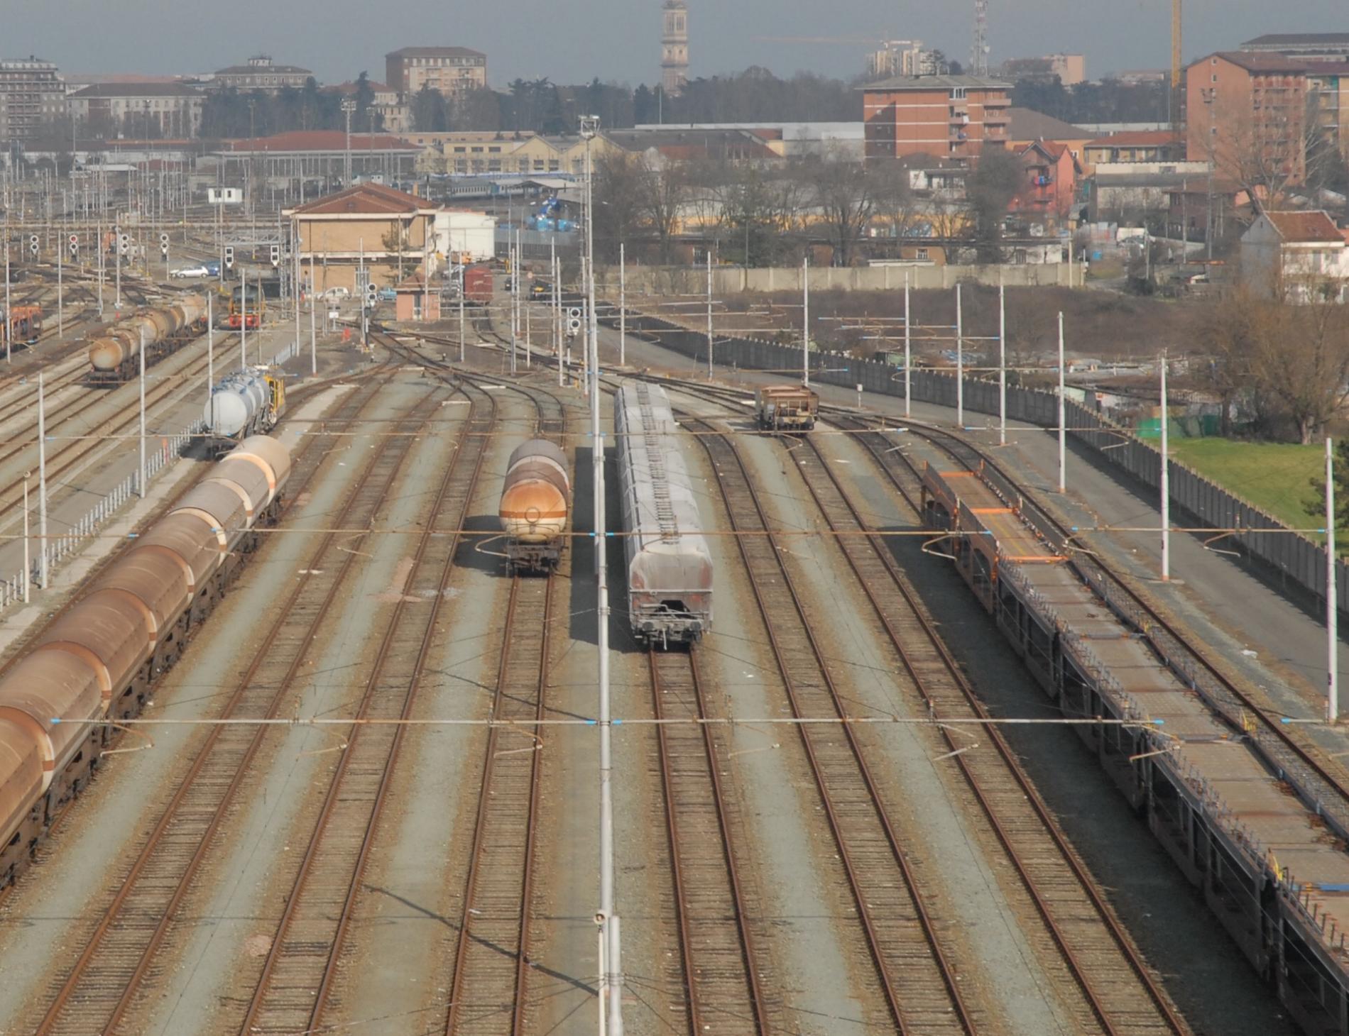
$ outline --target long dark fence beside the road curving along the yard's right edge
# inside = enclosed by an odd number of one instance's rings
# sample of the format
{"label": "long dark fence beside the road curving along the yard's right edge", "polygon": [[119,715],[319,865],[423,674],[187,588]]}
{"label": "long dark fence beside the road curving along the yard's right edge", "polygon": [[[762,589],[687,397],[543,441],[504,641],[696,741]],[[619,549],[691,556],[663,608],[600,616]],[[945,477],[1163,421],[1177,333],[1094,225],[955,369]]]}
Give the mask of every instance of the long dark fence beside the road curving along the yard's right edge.
{"label": "long dark fence beside the road curving along the yard's right edge", "polygon": [[[616,318],[606,317],[606,322]],[[650,340],[674,349],[700,364],[707,364],[707,335],[689,330],[660,317],[629,312],[630,333],[645,335]],[[718,336],[714,359],[724,366],[793,374],[803,370],[801,349],[758,339]],[[862,386],[866,393],[904,395],[904,371],[876,360],[858,360],[847,353],[812,352],[811,380],[846,388]],[[955,375],[942,371],[913,371],[912,398],[916,402],[954,407],[956,402]],[[973,413],[998,413],[998,384],[985,378],[965,378],[965,409]],[[1058,428],[1058,394],[1036,388],[1009,386],[1006,391],[1008,420]],[[1099,460],[1118,468],[1148,487],[1160,487],[1161,455],[1133,432],[1114,424],[1095,409],[1066,401],[1068,434],[1090,447]],[[1106,449],[1109,447],[1109,449]],[[1167,465],[1171,487],[1171,506],[1187,515],[1195,526],[1214,529],[1214,545],[1238,556],[1255,558],[1268,565],[1283,583],[1296,585],[1323,600],[1326,595],[1325,548],[1295,533],[1273,515],[1261,511],[1202,475],[1171,460]],[[1236,530],[1236,531],[1228,531]],[[1336,563],[1337,600],[1349,616],[1349,568]]]}

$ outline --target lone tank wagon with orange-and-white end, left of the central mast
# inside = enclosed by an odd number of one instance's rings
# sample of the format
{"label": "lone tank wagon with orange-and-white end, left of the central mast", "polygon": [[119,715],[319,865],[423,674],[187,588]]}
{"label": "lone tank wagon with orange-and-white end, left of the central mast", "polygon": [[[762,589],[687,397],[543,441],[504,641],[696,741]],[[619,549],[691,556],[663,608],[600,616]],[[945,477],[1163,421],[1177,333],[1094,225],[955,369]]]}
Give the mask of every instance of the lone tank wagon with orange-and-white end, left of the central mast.
{"label": "lone tank wagon with orange-and-white end, left of the central mast", "polygon": [[563,560],[571,510],[567,455],[546,438],[521,442],[506,465],[498,514],[506,530],[510,572],[550,572]]}

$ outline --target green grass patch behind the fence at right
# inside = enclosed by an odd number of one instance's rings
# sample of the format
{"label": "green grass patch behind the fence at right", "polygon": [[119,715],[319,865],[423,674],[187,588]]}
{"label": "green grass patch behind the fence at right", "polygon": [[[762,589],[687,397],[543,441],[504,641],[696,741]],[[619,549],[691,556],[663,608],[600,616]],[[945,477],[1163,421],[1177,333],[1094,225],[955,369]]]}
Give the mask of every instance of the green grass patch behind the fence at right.
{"label": "green grass patch behind the fence at right", "polygon": [[1325,445],[1172,438],[1168,447],[1175,460],[1284,525],[1294,529],[1321,525],[1306,507],[1317,500],[1311,479],[1325,475]]}

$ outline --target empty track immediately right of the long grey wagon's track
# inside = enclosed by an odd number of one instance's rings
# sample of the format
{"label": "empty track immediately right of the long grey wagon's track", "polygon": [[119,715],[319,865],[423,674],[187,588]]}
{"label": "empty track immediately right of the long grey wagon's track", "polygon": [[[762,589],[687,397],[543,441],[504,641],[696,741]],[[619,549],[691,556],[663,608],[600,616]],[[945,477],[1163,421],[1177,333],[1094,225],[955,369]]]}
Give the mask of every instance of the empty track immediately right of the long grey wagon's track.
{"label": "empty track immediately right of the long grey wagon's track", "polygon": [[[707,451],[777,668],[796,718],[846,718],[824,653],[805,618],[758,494],[730,437],[681,415]],[[745,536],[743,533],[750,533]],[[905,1033],[974,1033],[948,929],[932,916],[924,885],[900,846],[886,805],[847,723],[799,724],[799,735],[843,866],[881,997]]]}

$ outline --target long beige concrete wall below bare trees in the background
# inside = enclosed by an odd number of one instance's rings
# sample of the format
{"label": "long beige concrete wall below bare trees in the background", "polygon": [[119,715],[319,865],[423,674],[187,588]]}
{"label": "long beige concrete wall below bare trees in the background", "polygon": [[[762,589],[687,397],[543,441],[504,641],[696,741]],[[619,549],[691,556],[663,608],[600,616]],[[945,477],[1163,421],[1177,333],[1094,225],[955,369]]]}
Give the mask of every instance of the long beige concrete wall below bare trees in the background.
{"label": "long beige concrete wall below bare trees in the background", "polygon": [[[828,291],[897,291],[904,289],[904,275],[915,289],[955,287],[956,283],[1027,287],[1047,285],[1068,287],[1082,283],[1082,267],[1072,267],[1072,281],[1068,281],[1067,263],[1028,263],[1017,266],[850,266],[811,267],[811,290]],[[618,294],[618,267],[596,264],[596,278],[602,291]],[[701,267],[630,266],[627,267],[627,290],[643,294],[664,295],[706,295],[707,270]],[[801,267],[741,266],[712,267],[712,294],[730,295],[739,291],[800,291]]]}

